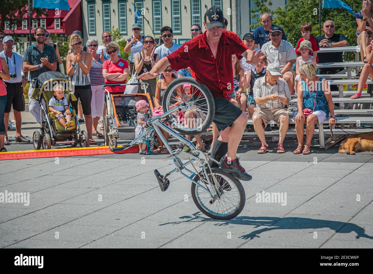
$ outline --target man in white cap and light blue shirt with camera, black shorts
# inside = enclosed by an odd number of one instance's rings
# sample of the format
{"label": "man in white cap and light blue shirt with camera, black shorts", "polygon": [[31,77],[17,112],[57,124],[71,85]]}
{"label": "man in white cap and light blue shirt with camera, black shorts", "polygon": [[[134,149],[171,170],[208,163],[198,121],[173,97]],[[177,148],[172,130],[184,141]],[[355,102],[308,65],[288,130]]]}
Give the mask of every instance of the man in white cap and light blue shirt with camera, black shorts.
{"label": "man in white cap and light blue shirt with camera, black shorts", "polygon": [[[21,112],[25,111],[25,98],[23,97],[23,86],[27,84],[28,72],[23,70],[22,56],[19,53],[13,52],[14,39],[11,36],[3,38],[4,51],[0,53],[0,57],[6,60],[8,65],[10,80],[6,82],[7,101],[5,105],[4,124],[5,124],[5,140],[4,145],[10,145],[8,139],[8,122],[10,110],[13,107],[14,120],[16,122],[16,142],[25,143],[30,140],[21,135],[22,116]],[[23,72],[24,78],[22,78]]]}

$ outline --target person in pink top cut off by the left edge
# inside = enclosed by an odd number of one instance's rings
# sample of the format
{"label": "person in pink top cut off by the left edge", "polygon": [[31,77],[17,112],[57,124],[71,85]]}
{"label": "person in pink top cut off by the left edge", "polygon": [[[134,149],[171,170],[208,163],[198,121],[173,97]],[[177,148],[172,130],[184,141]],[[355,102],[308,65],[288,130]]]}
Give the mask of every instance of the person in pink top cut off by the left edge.
{"label": "person in pink top cut off by the left edge", "polygon": [[6,60],[0,57],[0,153],[5,152],[4,148],[4,135],[5,135],[5,125],[4,125],[4,111],[6,104],[6,87],[3,80],[9,80],[9,69],[6,64]]}

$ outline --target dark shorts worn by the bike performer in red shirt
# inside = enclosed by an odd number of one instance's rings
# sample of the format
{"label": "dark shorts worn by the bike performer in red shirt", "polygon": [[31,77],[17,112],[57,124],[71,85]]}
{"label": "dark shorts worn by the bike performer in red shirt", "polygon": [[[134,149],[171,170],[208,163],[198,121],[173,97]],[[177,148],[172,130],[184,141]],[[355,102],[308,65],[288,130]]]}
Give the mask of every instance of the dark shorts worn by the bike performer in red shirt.
{"label": "dark shorts worn by the bike performer in red shirt", "polygon": [[229,102],[226,98],[217,97],[215,101],[215,116],[213,122],[217,129],[224,130],[232,126],[233,122],[242,114],[242,110]]}

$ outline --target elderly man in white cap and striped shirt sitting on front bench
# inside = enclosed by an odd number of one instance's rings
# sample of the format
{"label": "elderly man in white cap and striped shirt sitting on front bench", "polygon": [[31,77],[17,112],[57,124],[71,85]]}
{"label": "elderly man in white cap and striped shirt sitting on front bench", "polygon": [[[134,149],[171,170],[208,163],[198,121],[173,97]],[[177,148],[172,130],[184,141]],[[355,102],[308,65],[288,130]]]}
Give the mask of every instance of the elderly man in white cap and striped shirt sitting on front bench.
{"label": "elderly man in white cap and striped shirt sitting on front bench", "polygon": [[268,151],[268,145],[264,135],[264,126],[270,121],[280,123],[280,138],[277,145],[277,153],[284,153],[283,140],[289,127],[289,115],[285,108],[291,99],[289,86],[281,78],[282,73],[278,63],[267,66],[266,75],[254,82],[254,100],[257,107],[254,108],[253,122],[254,130],[257,133],[261,147],[258,153],[263,154]]}

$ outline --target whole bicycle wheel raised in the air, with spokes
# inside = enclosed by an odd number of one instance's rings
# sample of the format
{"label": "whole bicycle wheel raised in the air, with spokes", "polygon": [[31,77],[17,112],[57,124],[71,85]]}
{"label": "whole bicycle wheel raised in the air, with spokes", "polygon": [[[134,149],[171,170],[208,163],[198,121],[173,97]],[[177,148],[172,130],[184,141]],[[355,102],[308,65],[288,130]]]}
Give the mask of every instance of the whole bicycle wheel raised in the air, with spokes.
{"label": "whole bicycle wheel raised in the air, with spokes", "polygon": [[[190,86],[183,90],[183,85]],[[206,131],[215,114],[214,98],[207,86],[194,78],[182,77],[173,80],[163,95],[164,112],[175,108],[170,122],[173,129],[187,135]]]}

